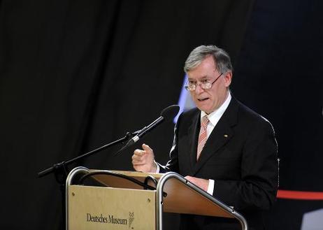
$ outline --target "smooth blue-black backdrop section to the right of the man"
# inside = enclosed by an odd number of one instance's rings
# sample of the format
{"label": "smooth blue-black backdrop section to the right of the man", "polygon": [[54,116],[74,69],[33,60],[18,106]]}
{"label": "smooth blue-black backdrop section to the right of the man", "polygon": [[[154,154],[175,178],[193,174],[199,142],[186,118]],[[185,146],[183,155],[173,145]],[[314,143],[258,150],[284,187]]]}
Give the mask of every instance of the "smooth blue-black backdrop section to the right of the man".
{"label": "smooth blue-black backdrop section to the right of the man", "polygon": [[[323,192],[322,9],[322,1],[255,1],[235,66],[234,93],[275,127],[280,189]],[[322,208],[278,199],[268,227],[301,229],[303,214]]]}

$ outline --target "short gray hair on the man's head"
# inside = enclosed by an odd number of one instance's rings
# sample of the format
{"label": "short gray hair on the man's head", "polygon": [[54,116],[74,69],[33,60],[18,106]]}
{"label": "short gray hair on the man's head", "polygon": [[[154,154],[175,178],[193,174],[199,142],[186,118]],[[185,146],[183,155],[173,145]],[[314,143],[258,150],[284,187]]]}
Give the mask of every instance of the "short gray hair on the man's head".
{"label": "short gray hair on the man's head", "polygon": [[201,64],[203,59],[212,56],[215,62],[217,71],[226,73],[227,71],[233,71],[232,64],[228,53],[215,45],[200,45],[196,47],[187,57],[184,71],[185,73],[191,71],[196,66]]}

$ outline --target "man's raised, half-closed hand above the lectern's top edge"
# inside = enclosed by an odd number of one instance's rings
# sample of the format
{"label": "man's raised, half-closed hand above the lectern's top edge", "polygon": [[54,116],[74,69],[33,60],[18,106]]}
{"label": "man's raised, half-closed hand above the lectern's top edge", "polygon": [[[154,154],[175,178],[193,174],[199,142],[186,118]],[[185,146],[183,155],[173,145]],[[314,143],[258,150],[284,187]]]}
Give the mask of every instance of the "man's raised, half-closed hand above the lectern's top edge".
{"label": "man's raised, half-closed hand above the lectern's top edge", "polygon": [[152,149],[148,145],[143,144],[143,150],[134,150],[132,165],[136,171],[156,173],[157,166],[154,159],[155,156]]}

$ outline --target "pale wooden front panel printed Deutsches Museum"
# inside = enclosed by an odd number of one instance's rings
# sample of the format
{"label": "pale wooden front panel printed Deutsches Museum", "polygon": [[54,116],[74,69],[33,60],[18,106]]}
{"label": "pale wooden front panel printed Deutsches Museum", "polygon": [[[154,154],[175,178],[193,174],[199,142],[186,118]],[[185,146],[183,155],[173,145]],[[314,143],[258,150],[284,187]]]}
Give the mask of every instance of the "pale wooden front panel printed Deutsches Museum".
{"label": "pale wooden front panel printed Deutsches Museum", "polygon": [[156,229],[155,191],[70,185],[68,229]]}

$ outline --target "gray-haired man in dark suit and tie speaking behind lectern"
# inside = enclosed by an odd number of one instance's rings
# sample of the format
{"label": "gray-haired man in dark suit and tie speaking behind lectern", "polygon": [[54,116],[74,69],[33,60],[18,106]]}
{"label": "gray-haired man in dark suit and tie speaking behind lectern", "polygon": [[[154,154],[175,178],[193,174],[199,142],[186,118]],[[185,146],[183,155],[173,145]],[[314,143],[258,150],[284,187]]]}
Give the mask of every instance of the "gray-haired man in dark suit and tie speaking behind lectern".
{"label": "gray-haired man in dark suit and tie speaking behind lectern", "polygon": [[[275,133],[261,115],[238,102],[229,85],[229,55],[214,45],[195,48],[185,62],[186,89],[196,104],[175,126],[170,161],[157,164],[152,149],[135,150],[136,171],[175,171],[241,212],[249,229],[264,229],[264,210],[278,189]],[[235,220],[182,215],[181,229],[241,229]]]}

